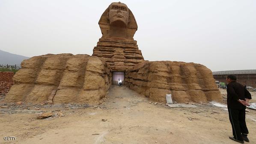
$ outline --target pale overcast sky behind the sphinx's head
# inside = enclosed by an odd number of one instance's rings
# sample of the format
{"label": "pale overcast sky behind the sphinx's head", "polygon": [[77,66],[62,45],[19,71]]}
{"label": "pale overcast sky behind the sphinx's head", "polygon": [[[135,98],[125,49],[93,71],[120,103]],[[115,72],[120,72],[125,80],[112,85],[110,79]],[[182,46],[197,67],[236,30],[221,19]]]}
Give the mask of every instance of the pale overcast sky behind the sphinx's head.
{"label": "pale overcast sky behind the sphinx's head", "polygon": [[[23,56],[92,55],[98,21],[115,1],[0,0],[0,50]],[[118,2],[118,1],[116,1]],[[145,60],[211,71],[256,69],[256,0],[122,0],[133,12]]]}

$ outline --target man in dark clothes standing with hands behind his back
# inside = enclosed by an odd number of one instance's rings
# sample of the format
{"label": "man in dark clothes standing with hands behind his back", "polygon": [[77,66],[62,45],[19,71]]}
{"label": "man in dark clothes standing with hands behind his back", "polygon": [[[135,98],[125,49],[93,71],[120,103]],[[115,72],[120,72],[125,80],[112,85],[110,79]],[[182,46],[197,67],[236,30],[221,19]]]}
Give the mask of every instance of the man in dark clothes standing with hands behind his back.
{"label": "man in dark clothes standing with hands behind his back", "polygon": [[249,132],[245,123],[245,109],[246,106],[250,106],[248,102],[252,97],[243,85],[236,82],[235,75],[228,75],[226,81],[228,82],[226,90],[227,106],[233,131],[233,137],[229,138],[243,144],[244,141],[249,142],[247,138]]}

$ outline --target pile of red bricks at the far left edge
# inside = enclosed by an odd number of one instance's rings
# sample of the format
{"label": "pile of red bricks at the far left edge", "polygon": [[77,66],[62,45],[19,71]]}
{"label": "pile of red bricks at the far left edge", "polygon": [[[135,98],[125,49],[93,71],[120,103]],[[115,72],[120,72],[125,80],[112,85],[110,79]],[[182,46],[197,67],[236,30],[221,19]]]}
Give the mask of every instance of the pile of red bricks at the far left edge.
{"label": "pile of red bricks at the far left edge", "polygon": [[12,77],[14,76],[13,72],[2,72],[0,71],[0,95],[6,95],[12,85]]}

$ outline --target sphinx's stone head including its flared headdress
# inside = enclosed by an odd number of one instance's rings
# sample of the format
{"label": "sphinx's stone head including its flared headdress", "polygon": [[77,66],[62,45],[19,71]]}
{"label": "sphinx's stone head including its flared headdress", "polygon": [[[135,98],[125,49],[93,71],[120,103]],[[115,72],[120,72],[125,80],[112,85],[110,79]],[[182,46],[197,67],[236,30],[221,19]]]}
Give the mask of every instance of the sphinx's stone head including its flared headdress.
{"label": "sphinx's stone head including its flared headdress", "polygon": [[124,3],[111,3],[98,22],[102,38],[134,40],[137,23],[131,10]]}

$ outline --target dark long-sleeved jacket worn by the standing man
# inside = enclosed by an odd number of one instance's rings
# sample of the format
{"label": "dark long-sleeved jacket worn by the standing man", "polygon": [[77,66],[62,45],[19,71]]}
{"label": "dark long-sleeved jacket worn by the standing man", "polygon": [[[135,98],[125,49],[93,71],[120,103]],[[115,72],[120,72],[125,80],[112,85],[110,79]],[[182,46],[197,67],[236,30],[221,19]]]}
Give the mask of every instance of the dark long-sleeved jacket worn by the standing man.
{"label": "dark long-sleeved jacket worn by the standing man", "polygon": [[231,109],[246,109],[246,106],[238,102],[238,100],[252,99],[250,92],[236,81],[229,82],[226,91],[227,105]]}

